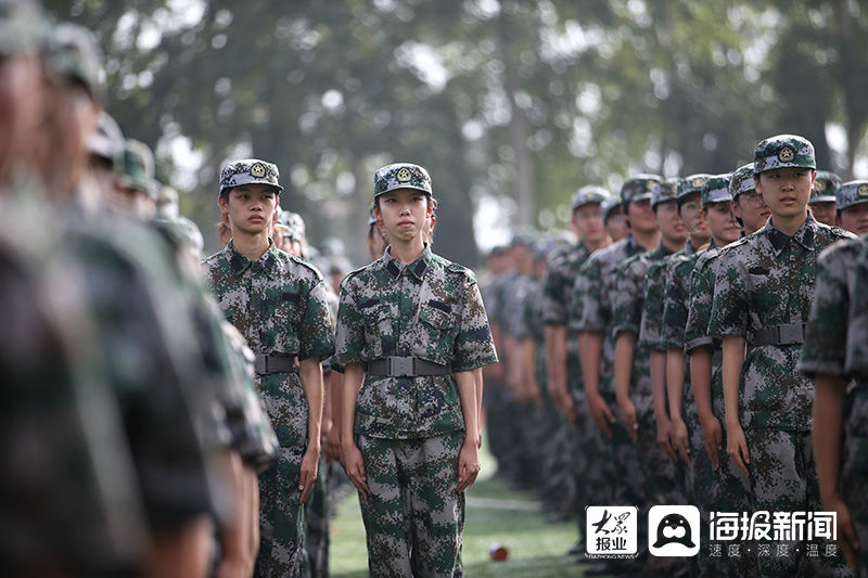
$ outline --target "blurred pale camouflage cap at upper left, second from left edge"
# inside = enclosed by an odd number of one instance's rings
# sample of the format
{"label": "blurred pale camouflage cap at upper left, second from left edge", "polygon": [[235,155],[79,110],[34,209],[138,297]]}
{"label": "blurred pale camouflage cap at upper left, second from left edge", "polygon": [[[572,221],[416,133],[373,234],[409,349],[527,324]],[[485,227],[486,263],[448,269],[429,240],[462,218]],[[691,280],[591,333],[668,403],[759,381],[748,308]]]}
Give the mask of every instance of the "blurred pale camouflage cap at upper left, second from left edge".
{"label": "blurred pale camouflage cap at upper left, second from left edge", "polygon": [[58,77],[79,82],[94,100],[102,100],[105,72],[93,33],[77,24],[61,23],[46,39],[46,62]]}

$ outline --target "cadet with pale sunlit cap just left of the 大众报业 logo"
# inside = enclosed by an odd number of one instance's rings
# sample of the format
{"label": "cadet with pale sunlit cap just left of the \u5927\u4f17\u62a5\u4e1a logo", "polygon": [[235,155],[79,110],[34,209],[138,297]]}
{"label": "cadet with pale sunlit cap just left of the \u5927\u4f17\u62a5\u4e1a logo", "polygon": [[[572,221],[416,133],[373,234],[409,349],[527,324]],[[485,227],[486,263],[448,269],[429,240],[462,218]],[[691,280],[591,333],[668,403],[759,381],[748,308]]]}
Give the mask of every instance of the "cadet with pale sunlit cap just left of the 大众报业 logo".
{"label": "cadet with pale sunlit cap just left of the \u5927\u4f17\u62a5\u4e1a logo", "polygon": [[542,317],[546,323],[549,393],[559,411],[570,420],[574,428],[571,462],[576,487],[575,513],[582,539],[578,548],[571,553],[578,555],[585,551],[585,506],[591,503],[588,496],[590,488],[584,472],[596,457],[596,436],[590,431],[596,426],[585,403],[577,336],[575,332],[569,332],[566,325],[571,301],[575,297],[572,290],[578,270],[591,253],[611,242],[601,215],[601,205],[610,198],[609,191],[601,187],[587,185],[575,192],[571,201],[571,224],[580,242],[549,264],[544,281]]}

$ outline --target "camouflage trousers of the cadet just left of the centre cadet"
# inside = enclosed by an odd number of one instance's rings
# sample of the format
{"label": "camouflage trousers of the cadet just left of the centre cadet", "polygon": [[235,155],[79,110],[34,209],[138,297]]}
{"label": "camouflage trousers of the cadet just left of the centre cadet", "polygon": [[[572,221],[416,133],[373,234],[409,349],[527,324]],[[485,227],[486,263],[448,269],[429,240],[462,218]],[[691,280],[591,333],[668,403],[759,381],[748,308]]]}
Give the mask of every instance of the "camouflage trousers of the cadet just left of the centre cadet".
{"label": "camouflage trousers of the cadet just left of the centre cadet", "polygon": [[306,577],[304,508],[298,503],[302,457],[280,448],[278,460],[259,474],[259,553],[257,578]]}

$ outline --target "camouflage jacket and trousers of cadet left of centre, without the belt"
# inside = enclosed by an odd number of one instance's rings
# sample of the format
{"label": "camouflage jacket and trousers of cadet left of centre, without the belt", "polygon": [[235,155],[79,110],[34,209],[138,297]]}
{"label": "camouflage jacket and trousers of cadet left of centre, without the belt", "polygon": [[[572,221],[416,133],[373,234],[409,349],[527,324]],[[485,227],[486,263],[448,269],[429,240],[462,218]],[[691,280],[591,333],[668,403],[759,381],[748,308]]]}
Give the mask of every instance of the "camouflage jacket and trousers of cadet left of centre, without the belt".
{"label": "camouflage jacket and trousers of cadet left of centre, without the belt", "polygon": [[[273,244],[252,261],[230,241],[203,269],[224,316],[254,354],[304,360],[333,352],[326,285],[306,261]],[[277,463],[259,476],[257,575],[295,576],[305,560],[298,475],[307,447],[307,396],[296,373],[257,375],[257,382],[280,445]]]}

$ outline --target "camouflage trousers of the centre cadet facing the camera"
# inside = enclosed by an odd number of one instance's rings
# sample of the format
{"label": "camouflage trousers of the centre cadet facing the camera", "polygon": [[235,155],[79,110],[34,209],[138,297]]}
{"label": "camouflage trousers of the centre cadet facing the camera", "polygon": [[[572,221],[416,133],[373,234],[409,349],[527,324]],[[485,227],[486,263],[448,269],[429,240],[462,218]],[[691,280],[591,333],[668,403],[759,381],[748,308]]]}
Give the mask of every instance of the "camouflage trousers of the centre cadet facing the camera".
{"label": "camouflage trousers of the centre cadet facing the camera", "polygon": [[359,436],[371,497],[361,502],[371,576],[462,576],[464,432],[421,438]]}

